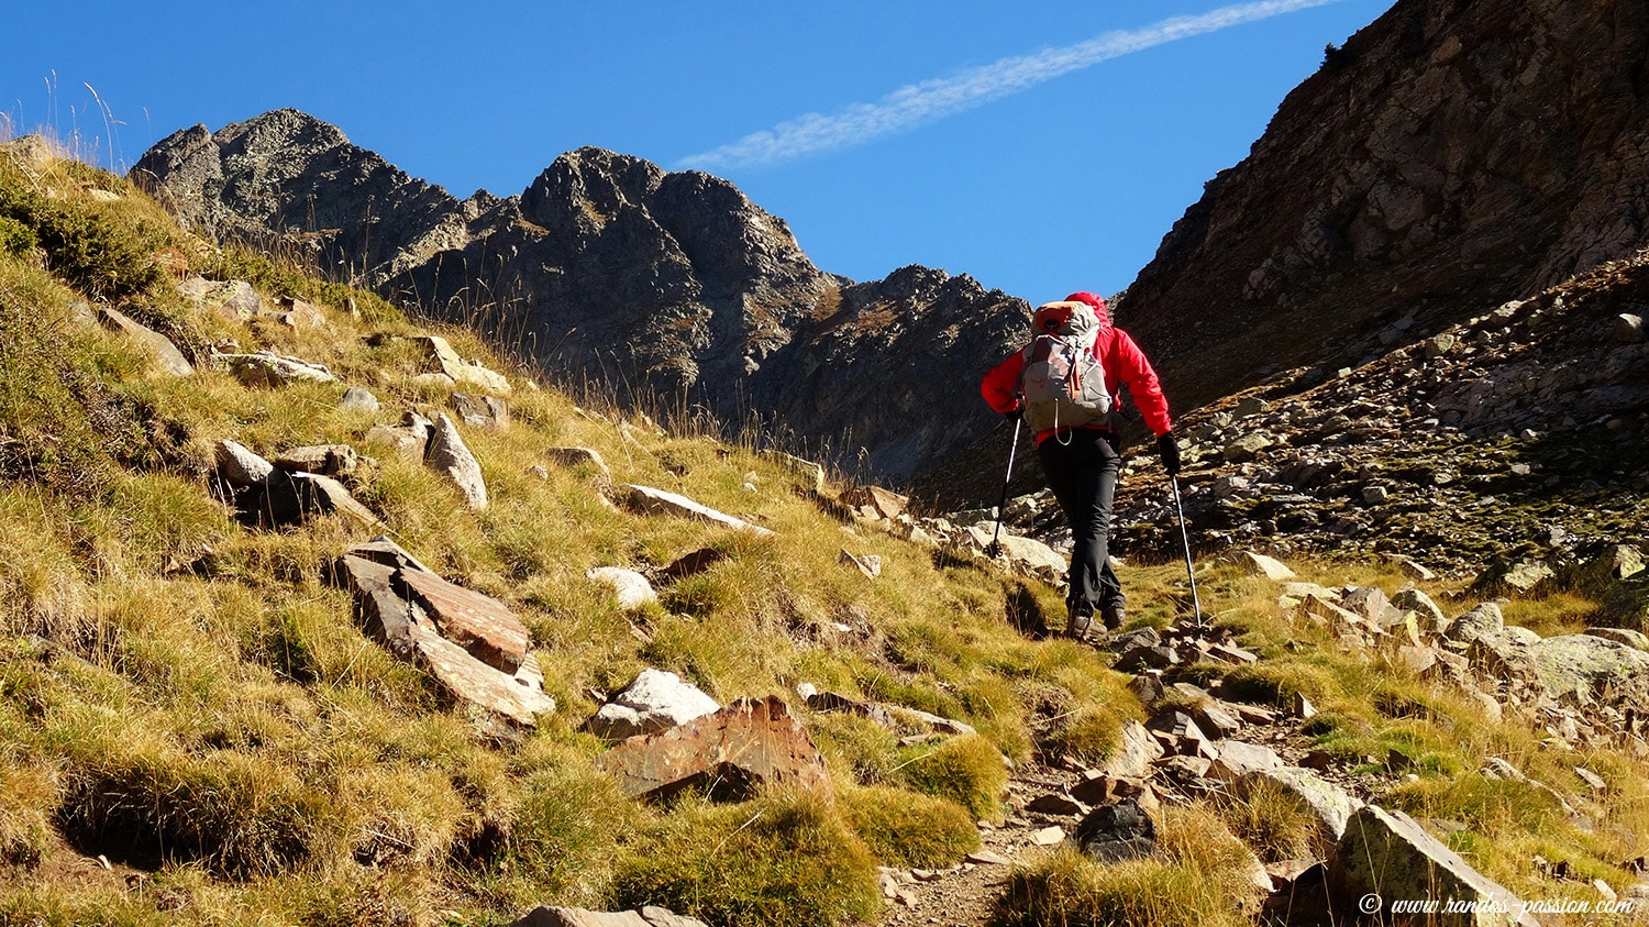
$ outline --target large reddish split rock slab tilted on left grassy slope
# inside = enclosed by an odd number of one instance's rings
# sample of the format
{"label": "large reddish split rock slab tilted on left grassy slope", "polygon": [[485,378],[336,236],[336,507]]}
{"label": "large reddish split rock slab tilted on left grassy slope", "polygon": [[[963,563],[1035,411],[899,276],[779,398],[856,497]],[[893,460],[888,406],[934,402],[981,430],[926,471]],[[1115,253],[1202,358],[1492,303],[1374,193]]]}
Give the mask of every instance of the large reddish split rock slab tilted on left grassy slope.
{"label": "large reddish split rock slab tilted on left grassy slope", "polygon": [[526,628],[501,602],[452,586],[383,538],[338,558],[331,581],[355,594],[368,637],[427,670],[460,703],[528,727],[556,709],[538,660],[526,652]]}

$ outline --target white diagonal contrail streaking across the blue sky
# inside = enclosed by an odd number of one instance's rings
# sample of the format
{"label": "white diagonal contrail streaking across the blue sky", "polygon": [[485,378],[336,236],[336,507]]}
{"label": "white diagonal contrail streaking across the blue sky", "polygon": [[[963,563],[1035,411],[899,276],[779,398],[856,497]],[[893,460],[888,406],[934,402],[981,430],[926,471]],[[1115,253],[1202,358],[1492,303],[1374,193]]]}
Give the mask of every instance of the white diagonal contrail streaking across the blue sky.
{"label": "white diagonal contrail streaking across the blue sky", "polygon": [[950,78],[907,84],[877,102],[853,104],[836,115],[810,112],[780,122],[768,130],[745,135],[731,145],[681,158],[676,167],[716,170],[770,165],[803,155],[851,148],[1027,91],[1062,74],[1092,68],[1100,61],[1336,2],[1265,0],[1238,3],[1197,16],[1174,16],[1141,30],[1108,31],[1077,45],[1049,48],[1036,54],[1003,58]]}

